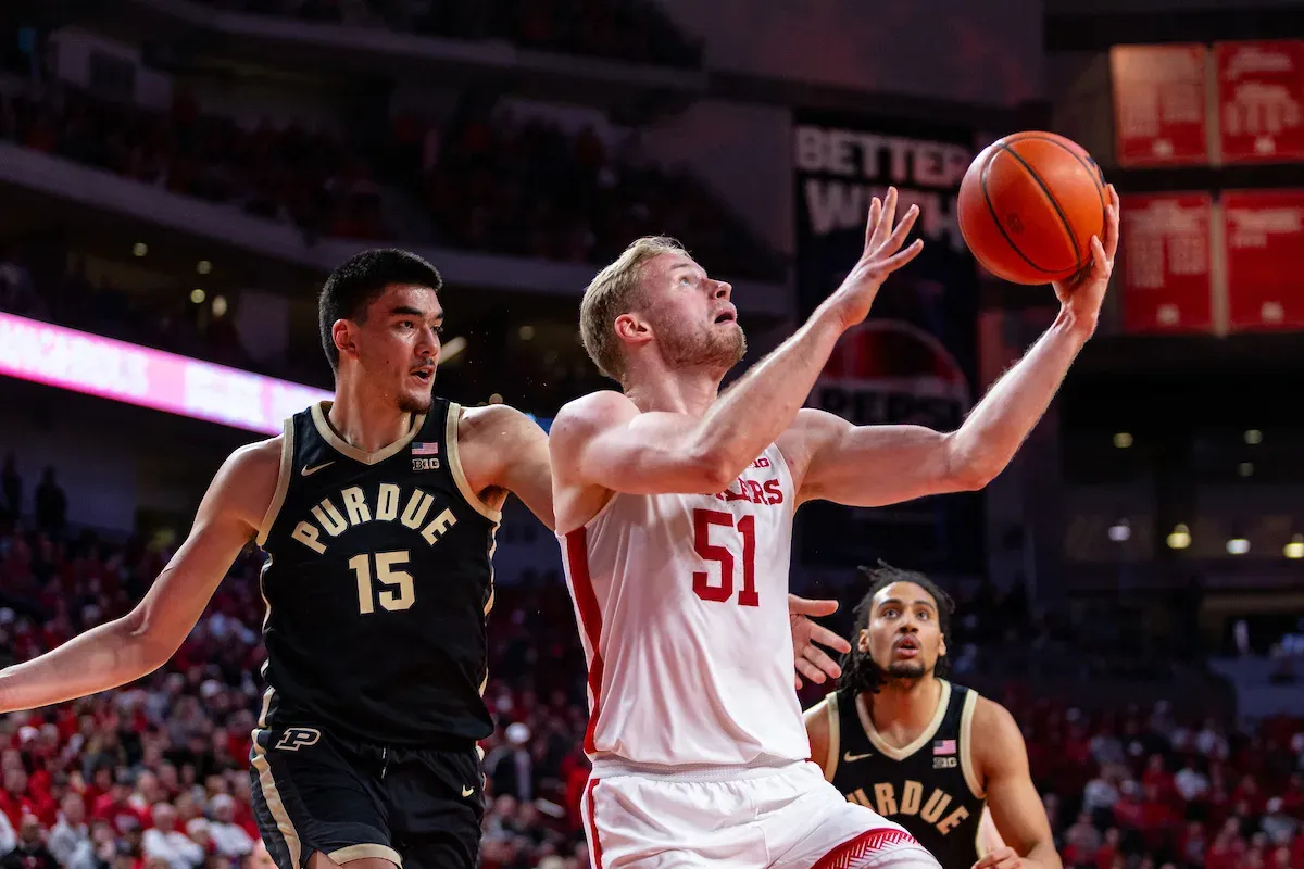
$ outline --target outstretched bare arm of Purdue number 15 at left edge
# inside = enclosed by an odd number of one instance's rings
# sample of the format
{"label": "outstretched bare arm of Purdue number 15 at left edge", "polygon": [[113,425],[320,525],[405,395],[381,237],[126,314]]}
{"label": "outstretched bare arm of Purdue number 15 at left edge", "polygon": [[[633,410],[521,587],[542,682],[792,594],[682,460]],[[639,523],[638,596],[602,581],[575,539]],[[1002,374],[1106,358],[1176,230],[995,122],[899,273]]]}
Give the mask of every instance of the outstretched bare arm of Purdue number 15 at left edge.
{"label": "outstretched bare arm of Purdue number 15 at left edge", "polygon": [[163,666],[200,620],[273,500],[280,440],[237,449],[209,486],[189,537],[134,610],[0,671],[0,713],[134,681]]}

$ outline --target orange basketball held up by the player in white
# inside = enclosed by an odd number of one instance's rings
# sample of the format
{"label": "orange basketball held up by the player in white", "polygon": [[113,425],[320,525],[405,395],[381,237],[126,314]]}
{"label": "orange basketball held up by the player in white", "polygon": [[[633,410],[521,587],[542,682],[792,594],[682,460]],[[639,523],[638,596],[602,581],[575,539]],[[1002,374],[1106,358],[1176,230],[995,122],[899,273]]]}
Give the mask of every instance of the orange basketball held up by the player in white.
{"label": "orange basketball held up by the player in white", "polygon": [[1048,284],[1091,262],[1104,241],[1104,176],[1076,142],[1015,133],[974,158],[960,184],[960,232],[988,271]]}

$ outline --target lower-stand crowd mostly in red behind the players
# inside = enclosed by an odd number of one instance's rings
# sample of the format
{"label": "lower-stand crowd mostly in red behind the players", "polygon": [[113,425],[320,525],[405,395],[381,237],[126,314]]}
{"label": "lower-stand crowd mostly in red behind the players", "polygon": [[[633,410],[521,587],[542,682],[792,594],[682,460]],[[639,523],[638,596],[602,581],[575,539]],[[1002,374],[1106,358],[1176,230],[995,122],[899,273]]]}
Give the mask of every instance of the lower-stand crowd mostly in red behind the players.
{"label": "lower-stand crowd mostly in red behind the players", "polygon": [[[53,472],[31,492],[23,472],[13,457],[0,466],[0,666],[124,614],[170,556],[162,543],[70,532]],[[248,779],[261,560],[254,551],[237,560],[162,671],[0,719],[0,866],[266,860]],[[990,588],[965,595],[957,640],[985,654],[985,637],[1015,627],[1016,598]],[[490,636],[497,730],[484,744],[484,866],[587,866],[584,666],[558,572],[499,586]],[[1167,701],[1088,710],[1018,679],[996,698],[1021,723],[1069,869],[1304,869],[1304,720],[1239,727],[1218,710],[1178,714]]]}

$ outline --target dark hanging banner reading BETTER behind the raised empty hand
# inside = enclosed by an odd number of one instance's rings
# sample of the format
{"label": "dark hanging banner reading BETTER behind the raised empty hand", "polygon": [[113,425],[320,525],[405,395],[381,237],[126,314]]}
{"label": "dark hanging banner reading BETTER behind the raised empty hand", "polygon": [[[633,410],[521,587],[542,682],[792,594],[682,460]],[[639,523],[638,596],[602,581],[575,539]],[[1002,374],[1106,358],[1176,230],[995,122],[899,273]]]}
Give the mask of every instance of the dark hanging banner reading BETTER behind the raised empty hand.
{"label": "dark hanging banner reading BETTER behind the raised empty hand", "polygon": [[[798,307],[808,315],[859,259],[874,197],[900,190],[919,206],[919,257],[883,285],[868,319],[842,336],[808,405],[857,425],[955,430],[977,390],[977,264],[960,235],[956,198],[975,150],[971,130],[849,115],[798,112],[793,152]],[[1050,292],[1050,291],[1047,291]],[[978,499],[953,496],[891,511],[812,504],[802,550],[861,563],[979,563]],[[837,545],[835,546],[835,541]]]}

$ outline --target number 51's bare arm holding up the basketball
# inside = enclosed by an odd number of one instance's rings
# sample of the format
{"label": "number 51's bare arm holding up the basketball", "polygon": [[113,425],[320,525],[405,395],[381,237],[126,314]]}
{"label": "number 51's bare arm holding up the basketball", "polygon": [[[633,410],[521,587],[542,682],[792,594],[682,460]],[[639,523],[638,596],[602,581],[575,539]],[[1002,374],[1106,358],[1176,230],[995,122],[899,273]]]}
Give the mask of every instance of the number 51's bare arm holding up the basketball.
{"label": "number 51's bare arm holding up the basketball", "polygon": [[1074,281],[1055,284],[1060,313],[1054,324],[958,430],[854,426],[823,410],[801,410],[778,439],[801,499],[880,507],[991,482],[1046,413],[1095,332],[1118,248],[1119,197],[1110,186],[1104,240],[1093,238],[1090,268]]}

